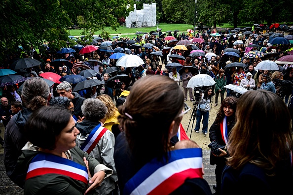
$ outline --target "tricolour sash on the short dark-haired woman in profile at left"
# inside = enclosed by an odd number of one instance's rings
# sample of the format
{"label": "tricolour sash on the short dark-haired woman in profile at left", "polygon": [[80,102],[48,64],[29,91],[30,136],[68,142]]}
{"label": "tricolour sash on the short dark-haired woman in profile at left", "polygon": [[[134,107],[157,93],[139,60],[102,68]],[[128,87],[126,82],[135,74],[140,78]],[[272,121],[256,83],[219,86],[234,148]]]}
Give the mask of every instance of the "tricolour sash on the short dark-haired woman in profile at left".
{"label": "tricolour sash on the short dark-haired woman in profile at left", "polygon": [[71,160],[52,154],[39,153],[30,163],[26,180],[45,174],[59,174],[87,184],[87,168]]}

